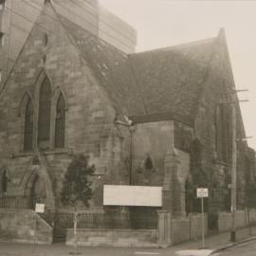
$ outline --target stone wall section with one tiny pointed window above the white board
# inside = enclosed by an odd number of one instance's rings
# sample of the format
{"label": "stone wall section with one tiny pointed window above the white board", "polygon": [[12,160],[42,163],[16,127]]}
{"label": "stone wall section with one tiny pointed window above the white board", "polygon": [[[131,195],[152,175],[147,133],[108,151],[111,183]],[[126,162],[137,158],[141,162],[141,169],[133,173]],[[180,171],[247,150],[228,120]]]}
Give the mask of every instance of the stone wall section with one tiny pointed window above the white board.
{"label": "stone wall section with one tiny pointed window above the white board", "polygon": [[[147,122],[136,125],[134,132],[135,185],[162,185],[164,160],[171,147],[172,121]],[[152,170],[146,170],[144,166],[148,156],[153,163]]]}

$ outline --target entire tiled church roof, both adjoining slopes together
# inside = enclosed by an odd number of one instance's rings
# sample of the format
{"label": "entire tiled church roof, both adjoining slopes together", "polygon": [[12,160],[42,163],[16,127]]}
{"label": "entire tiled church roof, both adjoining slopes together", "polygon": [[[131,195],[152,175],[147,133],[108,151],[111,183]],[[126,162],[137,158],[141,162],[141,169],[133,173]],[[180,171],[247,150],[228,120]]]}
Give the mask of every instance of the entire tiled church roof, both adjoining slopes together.
{"label": "entire tiled church roof, both adjoining slopes together", "polygon": [[62,21],[122,114],[172,112],[192,119],[216,38],[127,55],[63,17]]}

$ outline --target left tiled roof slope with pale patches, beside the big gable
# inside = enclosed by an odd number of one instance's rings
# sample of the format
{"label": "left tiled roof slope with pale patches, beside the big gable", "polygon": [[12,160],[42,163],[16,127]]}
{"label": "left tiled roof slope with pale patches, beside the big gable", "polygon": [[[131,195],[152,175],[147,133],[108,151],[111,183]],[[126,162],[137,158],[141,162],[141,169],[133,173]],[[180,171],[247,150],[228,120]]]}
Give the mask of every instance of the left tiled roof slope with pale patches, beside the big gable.
{"label": "left tiled roof slope with pale patches, beside the big gable", "polygon": [[82,58],[92,69],[113,105],[124,115],[145,113],[127,54],[64,17],[62,22]]}

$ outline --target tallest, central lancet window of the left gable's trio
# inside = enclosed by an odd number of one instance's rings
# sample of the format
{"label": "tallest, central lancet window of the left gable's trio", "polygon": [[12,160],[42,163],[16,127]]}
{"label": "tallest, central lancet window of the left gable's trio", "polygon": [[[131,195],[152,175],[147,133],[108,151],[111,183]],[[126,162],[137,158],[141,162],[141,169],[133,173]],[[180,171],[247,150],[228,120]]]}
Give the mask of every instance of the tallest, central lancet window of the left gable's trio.
{"label": "tallest, central lancet window of the left gable's trio", "polygon": [[51,93],[51,85],[46,77],[39,94],[38,146],[41,149],[49,148]]}

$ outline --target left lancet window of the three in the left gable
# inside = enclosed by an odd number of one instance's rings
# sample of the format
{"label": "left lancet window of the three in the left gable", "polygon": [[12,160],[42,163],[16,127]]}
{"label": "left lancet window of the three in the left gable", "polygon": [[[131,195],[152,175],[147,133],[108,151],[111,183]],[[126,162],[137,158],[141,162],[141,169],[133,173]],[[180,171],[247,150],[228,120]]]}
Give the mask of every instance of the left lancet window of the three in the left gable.
{"label": "left lancet window of the three in the left gable", "polygon": [[33,126],[34,107],[31,99],[28,99],[25,110],[24,151],[31,151],[33,148]]}

